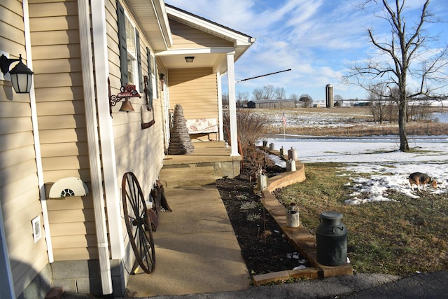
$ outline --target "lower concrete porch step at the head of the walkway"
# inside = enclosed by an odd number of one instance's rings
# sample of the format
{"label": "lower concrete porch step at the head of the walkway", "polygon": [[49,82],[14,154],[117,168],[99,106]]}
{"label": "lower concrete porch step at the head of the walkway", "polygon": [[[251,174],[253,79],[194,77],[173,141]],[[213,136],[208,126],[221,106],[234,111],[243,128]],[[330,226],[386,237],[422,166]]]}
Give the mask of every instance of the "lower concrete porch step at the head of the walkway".
{"label": "lower concrete porch step at the head of the walkway", "polygon": [[[160,178],[166,188],[183,186],[202,186],[215,183],[217,177],[213,166],[177,165],[178,167],[163,167]],[[183,167],[181,167],[183,166]]]}

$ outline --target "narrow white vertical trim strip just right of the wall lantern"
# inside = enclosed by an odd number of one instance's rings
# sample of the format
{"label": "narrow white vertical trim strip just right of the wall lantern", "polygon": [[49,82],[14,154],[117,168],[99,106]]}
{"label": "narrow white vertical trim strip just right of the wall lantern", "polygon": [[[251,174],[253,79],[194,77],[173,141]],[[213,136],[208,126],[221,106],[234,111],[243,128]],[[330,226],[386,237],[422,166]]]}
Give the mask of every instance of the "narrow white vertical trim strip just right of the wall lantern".
{"label": "narrow white vertical trim strip just right of the wall lantern", "polygon": [[[29,69],[33,69],[33,58],[31,55],[31,36],[29,33],[29,11],[28,0],[23,0],[23,23],[25,31],[25,52],[27,53],[27,66]],[[34,81],[34,77],[33,77]],[[34,138],[34,152],[36,153],[36,169],[37,169],[37,181],[39,185],[39,197],[41,200],[43,227],[45,228],[45,242],[47,243],[48,262],[55,261],[53,257],[53,248],[51,243],[50,234],[50,221],[48,221],[48,209],[47,209],[47,196],[45,194],[45,186],[43,180],[43,167],[42,167],[42,155],[41,155],[41,141],[39,139],[39,128],[37,125],[37,108],[36,108],[36,93],[34,92],[34,82],[29,90],[29,102],[31,109],[31,123],[33,124],[33,138]]]}

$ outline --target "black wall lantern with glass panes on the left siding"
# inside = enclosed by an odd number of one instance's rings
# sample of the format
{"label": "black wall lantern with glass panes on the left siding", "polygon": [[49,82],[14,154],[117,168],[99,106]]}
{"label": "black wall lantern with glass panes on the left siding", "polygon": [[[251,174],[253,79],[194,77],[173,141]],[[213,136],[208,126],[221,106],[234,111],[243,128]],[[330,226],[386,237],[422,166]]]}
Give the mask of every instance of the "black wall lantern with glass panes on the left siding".
{"label": "black wall lantern with glass panes on the left siding", "polygon": [[[15,64],[13,69],[9,70],[10,64],[13,62],[19,62]],[[22,54],[18,59],[10,59],[4,54],[0,56],[0,69],[3,75],[9,72],[11,76],[11,83],[16,93],[29,93],[31,90],[31,83],[33,82],[33,71],[22,62]]]}

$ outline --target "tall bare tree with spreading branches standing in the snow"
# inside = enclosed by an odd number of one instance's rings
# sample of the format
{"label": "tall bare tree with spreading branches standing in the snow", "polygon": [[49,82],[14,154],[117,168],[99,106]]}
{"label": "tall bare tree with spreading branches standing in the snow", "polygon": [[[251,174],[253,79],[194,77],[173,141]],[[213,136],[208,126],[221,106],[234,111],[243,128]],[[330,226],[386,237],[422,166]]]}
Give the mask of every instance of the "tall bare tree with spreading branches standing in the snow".
{"label": "tall bare tree with spreading branches standing in the snow", "polygon": [[[430,49],[430,41],[437,41],[437,36],[429,36],[425,31],[425,25],[436,22],[434,15],[428,11],[430,1],[426,0],[421,6],[418,18],[414,26],[409,26],[409,15],[405,10],[405,0],[365,0],[362,8],[369,4],[381,6],[382,15],[378,15],[391,26],[391,34],[381,41],[376,37],[372,29],[367,29],[370,42],[382,55],[376,60],[370,60],[366,64],[355,63],[351,67],[351,73],[345,76],[348,81],[361,86],[365,90],[373,82],[381,82],[389,90],[398,88],[398,127],[400,134],[400,151],[409,151],[407,143],[407,103],[409,99],[419,96],[441,99],[445,97],[440,94],[447,86],[447,46],[442,50]],[[407,17],[405,21],[405,15]],[[386,57],[380,60],[381,57]],[[421,64],[417,67],[414,64]],[[366,79],[368,81],[366,81]],[[412,92],[407,94],[408,82],[410,80],[419,82]],[[391,92],[389,92],[389,95]],[[384,95],[386,96],[386,95]]]}

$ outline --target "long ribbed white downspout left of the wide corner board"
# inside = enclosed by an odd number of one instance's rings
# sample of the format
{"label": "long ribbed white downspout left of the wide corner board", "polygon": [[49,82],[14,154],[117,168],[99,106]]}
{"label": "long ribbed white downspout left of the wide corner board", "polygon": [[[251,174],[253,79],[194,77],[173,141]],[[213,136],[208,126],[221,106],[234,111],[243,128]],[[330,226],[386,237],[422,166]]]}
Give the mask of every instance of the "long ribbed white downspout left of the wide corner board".
{"label": "long ribbed white downspout left of the wide corner board", "polygon": [[101,162],[99,160],[97,108],[94,97],[94,69],[92,63],[92,40],[90,37],[90,11],[88,0],[78,0],[78,16],[81,65],[83,70],[85,123],[87,127],[90,177],[92,180],[92,200],[98,242],[99,270],[103,295],[109,295],[113,293],[113,287],[111,262],[109,260],[109,242],[107,239],[106,213],[104,211]]}

